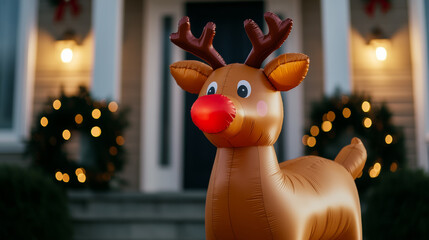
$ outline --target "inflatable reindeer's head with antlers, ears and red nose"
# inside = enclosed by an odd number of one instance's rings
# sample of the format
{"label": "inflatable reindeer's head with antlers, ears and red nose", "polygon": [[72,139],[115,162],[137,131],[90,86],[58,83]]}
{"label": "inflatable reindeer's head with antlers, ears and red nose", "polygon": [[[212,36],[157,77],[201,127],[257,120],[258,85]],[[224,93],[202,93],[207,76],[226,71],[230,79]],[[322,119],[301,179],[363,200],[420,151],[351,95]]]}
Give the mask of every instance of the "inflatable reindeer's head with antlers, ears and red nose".
{"label": "inflatable reindeer's head with antlers, ears and red nose", "polygon": [[207,23],[200,38],[190,31],[189,18],[179,22],[179,30],[170,36],[182,49],[210,64],[180,61],[170,66],[177,84],[185,91],[199,94],[191,109],[192,121],[217,147],[272,145],[283,123],[280,91],[298,86],[308,71],[309,58],[286,53],[262,62],[288,37],[292,20],[280,20],[265,13],[269,33],[264,35],[253,20],[244,27],[253,48],[244,64],[229,64],[213,48],[215,24]]}

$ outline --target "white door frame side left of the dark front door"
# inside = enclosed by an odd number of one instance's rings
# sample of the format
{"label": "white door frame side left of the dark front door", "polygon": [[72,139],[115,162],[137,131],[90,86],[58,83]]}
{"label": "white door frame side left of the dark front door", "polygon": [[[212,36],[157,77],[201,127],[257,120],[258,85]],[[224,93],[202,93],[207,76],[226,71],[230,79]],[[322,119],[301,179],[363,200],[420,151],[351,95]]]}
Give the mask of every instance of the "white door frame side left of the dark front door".
{"label": "white door frame side left of the dark front door", "polygon": [[[159,163],[160,93],[162,71],[162,19],[171,16],[172,29],[183,16],[183,1],[148,0],[143,5],[143,66],[140,190],[144,192],[182,190],[184,93],[171,78],[171,138],[169,164]],[[184,58],[183,51],[172,46],[173,62]]]}

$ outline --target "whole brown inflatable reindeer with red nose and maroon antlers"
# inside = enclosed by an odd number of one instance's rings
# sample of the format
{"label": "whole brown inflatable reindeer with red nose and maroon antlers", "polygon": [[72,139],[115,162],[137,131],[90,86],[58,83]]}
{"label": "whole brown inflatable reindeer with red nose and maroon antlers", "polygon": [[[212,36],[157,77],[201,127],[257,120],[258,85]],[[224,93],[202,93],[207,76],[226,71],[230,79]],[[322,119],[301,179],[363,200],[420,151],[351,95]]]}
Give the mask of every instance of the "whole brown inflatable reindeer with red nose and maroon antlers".
{"label": "whole brown inflatable reindeer with red nose and maroon antlers", "polygon": [[181,88],[199,94],[192,120],[217,147],[206,199],[206,237],[362,239],[354,179],[363,169],[366,150],[359,139],[344,147],[335,161],[316,156],[277,161],[273,144],[283,122],[280,91],[300,84],[309,58],[286,53],[260,69],[292,28],[291,19],[282,21],[273,13],[266,13],[265,20],[267,35],[254,21],[244,22],[253,45],[244,64],[226,65],[213,48],[214,23],[197,39],[184,17],[170,36],[174,44],[210,64],[180,61],[170,66]]}

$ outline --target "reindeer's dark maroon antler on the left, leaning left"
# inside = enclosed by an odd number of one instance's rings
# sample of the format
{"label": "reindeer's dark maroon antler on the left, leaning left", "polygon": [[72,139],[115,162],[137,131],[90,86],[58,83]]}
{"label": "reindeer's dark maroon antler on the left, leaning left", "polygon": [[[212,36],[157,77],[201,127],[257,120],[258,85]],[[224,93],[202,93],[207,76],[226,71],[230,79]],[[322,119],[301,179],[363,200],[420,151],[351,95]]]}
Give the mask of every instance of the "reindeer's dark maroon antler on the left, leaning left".
{"label": "reindeer's dark maroon antler on the left, leaning left", "polygon": [[213,69],[217,69],[225,66],[226,63],[213,47],[215,29],[214,23],[207,23],[200,38],[197,39],[191,32],[189,17],[183,17],[179,21],[178,31],[170,35],[170,40],[183,50],[206,61]]}

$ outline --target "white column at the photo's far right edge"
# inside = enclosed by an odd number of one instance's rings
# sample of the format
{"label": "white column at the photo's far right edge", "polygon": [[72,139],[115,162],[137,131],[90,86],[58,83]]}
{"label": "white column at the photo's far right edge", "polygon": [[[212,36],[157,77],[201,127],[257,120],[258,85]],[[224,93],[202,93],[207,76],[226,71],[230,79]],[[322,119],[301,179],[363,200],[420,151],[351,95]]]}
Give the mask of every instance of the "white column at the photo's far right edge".
{"label": "white column at the photo's far right edge", "polygon": [[425,2],[408,1],[410,23],[410,46],[414,87],[414,119],[416,121],[416,147],[418,167],[429,171],[428,162],[428,48],[426,33]]}

